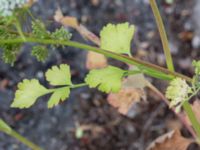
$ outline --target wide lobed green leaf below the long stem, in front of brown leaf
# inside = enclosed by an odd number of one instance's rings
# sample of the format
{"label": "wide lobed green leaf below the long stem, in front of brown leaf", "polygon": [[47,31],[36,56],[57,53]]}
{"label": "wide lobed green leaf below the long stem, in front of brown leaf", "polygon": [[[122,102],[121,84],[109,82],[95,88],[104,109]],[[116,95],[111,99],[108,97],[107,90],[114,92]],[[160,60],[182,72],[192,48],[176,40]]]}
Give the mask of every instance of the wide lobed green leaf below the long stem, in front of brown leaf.
{"label": "wide lobed green leaf below the long stem, in front of brown leaf", "polygon": [[122,86],[125,71],[114,66],[91,70],[85,82],[90,88],[97,87],[102,92],[118,92]]}

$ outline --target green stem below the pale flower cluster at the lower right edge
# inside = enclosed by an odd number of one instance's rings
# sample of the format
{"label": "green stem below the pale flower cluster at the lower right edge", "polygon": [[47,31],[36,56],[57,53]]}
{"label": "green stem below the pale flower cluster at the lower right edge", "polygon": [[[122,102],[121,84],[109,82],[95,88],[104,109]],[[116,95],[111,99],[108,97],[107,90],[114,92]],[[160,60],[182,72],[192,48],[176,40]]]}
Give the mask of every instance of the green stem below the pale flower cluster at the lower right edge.
{"label": "green stem below the pale flower cluster at the lower right edge", "polygon": [[192,123],[192,126],[197,134],[197,137],[198,137],[198,141],[200,141],[200,124],[199,122],[197,121],[197,118],[192,110],[192,107],[191,105],[189,104],[188,101],[186,101],[185,103],[183,103],[183,108],[185,110],[185,112],[187,113],[189,119],[190,119],[190,122]]}

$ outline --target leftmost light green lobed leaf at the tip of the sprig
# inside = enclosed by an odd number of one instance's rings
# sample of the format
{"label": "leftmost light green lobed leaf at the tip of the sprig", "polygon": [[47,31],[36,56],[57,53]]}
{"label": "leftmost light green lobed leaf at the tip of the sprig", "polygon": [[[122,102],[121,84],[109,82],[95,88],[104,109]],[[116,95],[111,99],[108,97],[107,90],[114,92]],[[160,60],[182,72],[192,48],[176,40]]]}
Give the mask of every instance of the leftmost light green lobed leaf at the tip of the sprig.
{"label": "leftmost light green lobed leaf at the tip of the sprig", "polygon": [[43,87],[38,80],[23,80],[18,84],[18,90],[15,93],[15,99],[11,107],[29,108],[37,98],[47,94],[49,90]]}

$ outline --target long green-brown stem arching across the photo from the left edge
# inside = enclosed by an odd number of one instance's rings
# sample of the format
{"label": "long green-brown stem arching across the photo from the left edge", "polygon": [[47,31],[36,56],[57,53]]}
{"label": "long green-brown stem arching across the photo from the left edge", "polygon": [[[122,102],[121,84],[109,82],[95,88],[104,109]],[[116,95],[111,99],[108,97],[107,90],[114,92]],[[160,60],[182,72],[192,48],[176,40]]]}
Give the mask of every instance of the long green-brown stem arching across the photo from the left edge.
{"label": "long green-brown stem arching across the photo from the left edge", "polygon": [[[86,45],[86,44],[82,44],[79,42],[74,42],[74,41],[61,41],[61,40],[54,40],[54,39],[36,39],[36,38],[29,38],[26,37],[26,42],[30,42],[30,43],[40,43],[40,44],[52,44],[52,45],[65,45],[65,46],[71,46],[71,47],[75,47],[75,48],[80,48],[80,49],[84,49],[87,51],[93,51],[93,52],[97,52],[100,54],[103,54],[107,57],[119,60],[121,62],[125,62],[127,64],[131,64],[131,65],[136,65],[139,69],[142,70],[147,70],[145,73],[149,76],[152,76],[152,72],[156,72],[157,75],[161,74],[162,76],[165,76],[166,78],[168,78],[168,80],[173,79],[174,77],[180,77],[182,79],[185,79],[188,82],[191,82],[192,79],[179,74],[177,72],[174,71],[170,71],[168,69],[162,68],[160,66],[142,61],[140,59],[134,58],[134,57],[128,57],[125,55],[120,55],[114,52],[110,52],[107,50],[103,50],[94,46],[90,46],[90,45]],[[11,43],[25,43],[23,41],[22,38],[16,38],[16,39],[1,39],[0,40],[0,44],[11,44]],[[153,76],[154,77],[154,76]]]}

